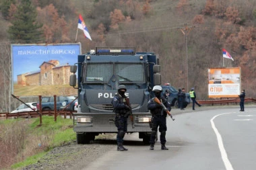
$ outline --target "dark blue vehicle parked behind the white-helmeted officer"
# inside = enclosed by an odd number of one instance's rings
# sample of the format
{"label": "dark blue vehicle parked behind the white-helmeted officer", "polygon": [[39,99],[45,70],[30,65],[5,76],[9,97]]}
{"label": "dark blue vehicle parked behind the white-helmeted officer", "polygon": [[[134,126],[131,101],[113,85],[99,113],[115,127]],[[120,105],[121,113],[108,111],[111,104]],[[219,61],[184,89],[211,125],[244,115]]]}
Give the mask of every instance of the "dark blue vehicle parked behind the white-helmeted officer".
{"label": "dark blue vehicle parked behind the white-helmeted officer", "polygon": [[[170,102],[171,106],[174,106],[175,108],[178,108],[178,90],[175,89],[175,87],[171,86],[170,83],[165,83],[162,86],[162,93],[168,89],[170,91],[168,101]],[[184,108],[187,107],[187,105],[191,102],[189,93],[185,93],[185,103]]]}

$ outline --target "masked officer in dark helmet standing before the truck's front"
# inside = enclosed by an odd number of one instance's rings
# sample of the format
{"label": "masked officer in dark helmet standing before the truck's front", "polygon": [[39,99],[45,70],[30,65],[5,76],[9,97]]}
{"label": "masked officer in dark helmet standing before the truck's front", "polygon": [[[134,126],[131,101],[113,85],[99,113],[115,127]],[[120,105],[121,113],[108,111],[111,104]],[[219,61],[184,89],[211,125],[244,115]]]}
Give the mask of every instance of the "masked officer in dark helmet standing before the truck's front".
{"label": "masked officer in dark helmet standing before the truck's front", "polygon": [[128,105],[125,105],[125,92],[127,91],[125,85],[119,85],[117,94],[112,99],[112,105],[114,107],[115,125],[117,126],[117,151],[127,151],[128,149],[123,146],[123,137],[127,132],[127,113],[131,111]]}

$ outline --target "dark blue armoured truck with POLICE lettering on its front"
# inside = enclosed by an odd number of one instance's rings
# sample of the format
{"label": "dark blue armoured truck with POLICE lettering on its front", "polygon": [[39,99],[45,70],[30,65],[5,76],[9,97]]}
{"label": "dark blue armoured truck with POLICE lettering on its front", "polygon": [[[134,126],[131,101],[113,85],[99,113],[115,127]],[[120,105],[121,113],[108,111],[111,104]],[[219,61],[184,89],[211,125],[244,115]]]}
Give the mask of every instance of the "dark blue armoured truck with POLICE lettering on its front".
{"label": "dark blue armoured truck with POLICE lettering on its front", "polygon": [[79,107],[73,114],[78,144],[89,143],[98,134],[117,132],[111,101],[119,85],[127,88],[125,95],[133,113],[134,127],[129,119],[127,133],[139,132],[139,138],[148,143],[151,134],[148,101],[154,85],[161,84],[158,62],[154,52],[135,52],[131,47],[98,47],[78,56],[78,62],[71,66],[73,75],[69,80],[78,91]]}

